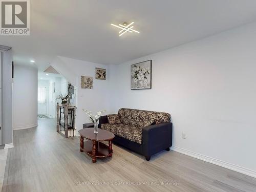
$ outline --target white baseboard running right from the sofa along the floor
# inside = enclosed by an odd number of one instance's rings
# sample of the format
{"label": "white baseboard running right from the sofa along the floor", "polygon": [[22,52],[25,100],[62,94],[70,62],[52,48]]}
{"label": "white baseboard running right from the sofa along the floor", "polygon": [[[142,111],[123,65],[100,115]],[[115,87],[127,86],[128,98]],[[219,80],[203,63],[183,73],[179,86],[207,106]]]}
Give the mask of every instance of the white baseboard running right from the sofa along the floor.
{"label": "white baseboard running right from the sofa along the floor", "polygon": [[238,165],[234,165],[234,164],[231,164],[231,163],[228,163],[228,162],[225,162],[225,161],[221,161],[221,160],[211,158],[211,157],[208,157],[208,156],[205,156],[205,155],[194,153],[194,152],[191,152],[191,151],[188,151],[188,150],[185,150],[183,148],[176,147],[176,146],[172,146],[171,150],[256,178],[256,171],[255,170],[250,170],[248,168],[244,168],[244,167],[241,167],[241,166],[238,166]]}

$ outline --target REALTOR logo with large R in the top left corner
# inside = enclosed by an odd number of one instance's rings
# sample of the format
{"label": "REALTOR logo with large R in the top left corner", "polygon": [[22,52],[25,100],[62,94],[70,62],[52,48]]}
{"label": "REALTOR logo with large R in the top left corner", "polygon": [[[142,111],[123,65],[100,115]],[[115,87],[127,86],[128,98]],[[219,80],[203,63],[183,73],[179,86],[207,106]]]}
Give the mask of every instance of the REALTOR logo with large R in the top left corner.
{"label": "REALTOR logo with large R in the top left corner", "polygon": [[0,35],[29,35],[29,0],[0,0]]}

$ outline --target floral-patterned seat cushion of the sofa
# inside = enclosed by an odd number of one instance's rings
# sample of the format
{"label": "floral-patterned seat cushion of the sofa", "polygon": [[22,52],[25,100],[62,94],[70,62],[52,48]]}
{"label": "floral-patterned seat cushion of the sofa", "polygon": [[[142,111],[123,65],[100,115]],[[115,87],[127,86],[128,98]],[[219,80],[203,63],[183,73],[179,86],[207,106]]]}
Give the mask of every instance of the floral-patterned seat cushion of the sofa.
{"label": "floral-patterned seat cushion of the sofa", "polygon": [[101,129],[110,131],[115,135],[118,135],[125,139],[129,139],[133,142],[136,142],[139,144],[142,143],[142,129],[139,129],[136,126],[105,123],[105,124],[101,124]]}

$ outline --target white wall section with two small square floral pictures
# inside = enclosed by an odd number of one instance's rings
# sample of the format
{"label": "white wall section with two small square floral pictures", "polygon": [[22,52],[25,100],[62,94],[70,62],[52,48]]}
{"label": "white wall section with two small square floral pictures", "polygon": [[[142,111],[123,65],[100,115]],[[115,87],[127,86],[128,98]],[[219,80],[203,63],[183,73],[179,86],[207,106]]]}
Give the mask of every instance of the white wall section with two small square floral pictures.
{"label": "white wall section with two small square floral pictures", "polygon": [[[77,130],[82,129],[83,123],[90,122],[82,109],[90,110],[93,113],[103,109],[106,110],[106,114],[109,113],[109,66],[60,56],[51,65],[75,87],[74,96],[77,96]],[[106,80],[95,79],[96,67],[106,69]],[[80,88],[81,75],[93,77],[93,89]]]}

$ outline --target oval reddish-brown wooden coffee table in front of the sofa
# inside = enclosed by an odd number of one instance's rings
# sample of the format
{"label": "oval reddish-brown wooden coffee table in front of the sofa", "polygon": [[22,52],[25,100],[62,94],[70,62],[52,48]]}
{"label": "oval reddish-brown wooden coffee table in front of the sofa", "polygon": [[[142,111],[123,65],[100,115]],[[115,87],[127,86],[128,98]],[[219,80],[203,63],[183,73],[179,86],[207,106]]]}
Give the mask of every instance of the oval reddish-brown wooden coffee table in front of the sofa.
{"label": "oval reddish-brown wooden coffee table in front of the sofa", "polygon": [[[78,131],[80,135],[80,152],[86,152],[96,162],[96,158],[111,157],[113,154],[112,140],[115,135],[109,131],[98,129],[98,133],[94,133],[94,128],[86,128]],[[83,138],[89,141],[83,142]],[[109,141],[106,145],[100,141]]]}

